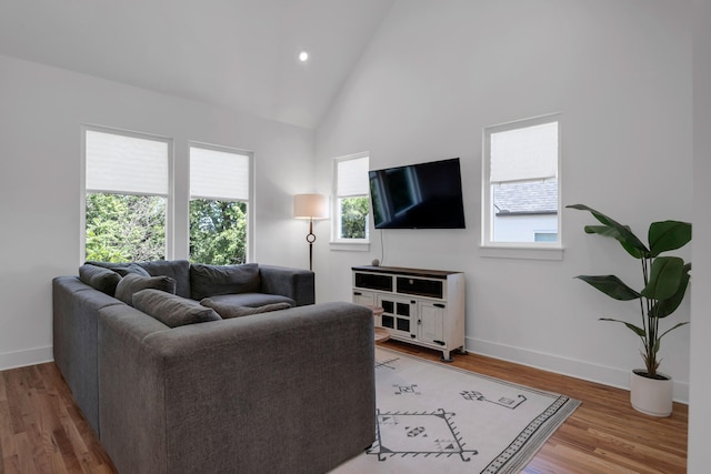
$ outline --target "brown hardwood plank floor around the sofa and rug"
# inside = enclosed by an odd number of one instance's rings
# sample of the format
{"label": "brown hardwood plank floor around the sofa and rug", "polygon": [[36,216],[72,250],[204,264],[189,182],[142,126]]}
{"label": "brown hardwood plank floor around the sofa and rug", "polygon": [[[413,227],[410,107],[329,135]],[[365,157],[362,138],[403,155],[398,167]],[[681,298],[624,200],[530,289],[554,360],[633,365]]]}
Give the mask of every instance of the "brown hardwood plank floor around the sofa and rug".
{"label": "brown hardwood plank floor around the sofa and rug", "polygon": [[[382,345],[435,361],[441,354]],[[654,418],[632,410],[623,390],[474,354],[454,355],[452,365],[582,401],[525,474],[687,471],[687,405]],[[0,474],[116,472],[53,363],[0,372]]]}

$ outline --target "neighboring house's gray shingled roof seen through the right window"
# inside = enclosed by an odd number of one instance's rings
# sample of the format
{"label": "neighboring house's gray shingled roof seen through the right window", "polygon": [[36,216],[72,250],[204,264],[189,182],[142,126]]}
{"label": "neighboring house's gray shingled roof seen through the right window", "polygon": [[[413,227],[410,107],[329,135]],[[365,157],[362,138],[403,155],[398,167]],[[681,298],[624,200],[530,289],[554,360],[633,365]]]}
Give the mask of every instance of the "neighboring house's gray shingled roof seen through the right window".
{"label": "neighboring house's gray shingled roof seen through the right window", "polygon": [[493,185],[497,215],[550,214],[558,212],[558,180]]}

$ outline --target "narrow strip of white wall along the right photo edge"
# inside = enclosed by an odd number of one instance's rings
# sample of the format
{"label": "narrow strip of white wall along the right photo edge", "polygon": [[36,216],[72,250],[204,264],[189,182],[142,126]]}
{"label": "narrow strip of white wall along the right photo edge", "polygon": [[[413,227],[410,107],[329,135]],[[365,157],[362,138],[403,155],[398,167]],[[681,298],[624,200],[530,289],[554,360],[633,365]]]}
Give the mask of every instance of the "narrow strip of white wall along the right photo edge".
{"label": "narrow strip of white wall along the right photo edge", "polygon": [[691,370],[689,393],[690,474],[709,471],[711,424],[711,3],[693,2],[693,292],[691,293]]}

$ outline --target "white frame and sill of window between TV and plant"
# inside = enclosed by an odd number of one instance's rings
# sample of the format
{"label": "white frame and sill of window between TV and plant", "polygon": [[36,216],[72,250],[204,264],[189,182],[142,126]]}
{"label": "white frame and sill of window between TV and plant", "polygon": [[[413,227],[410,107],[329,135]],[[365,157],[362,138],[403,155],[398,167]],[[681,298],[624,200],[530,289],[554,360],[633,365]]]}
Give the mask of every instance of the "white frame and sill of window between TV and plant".
{"label": "white frame and sill of window between TV and plant", "polygon": [[[558,123],[558,240],[557,242],[497,242],[493,233],[493,188],[491,184],[491,135],[499,132],[524,129],[547,123]],[[484,127],[482,130],[482,195],[481,195],[481,241],[483,256],[520,258],[534,260],[562,260],[562,114],[549,113],[529,119]]]}

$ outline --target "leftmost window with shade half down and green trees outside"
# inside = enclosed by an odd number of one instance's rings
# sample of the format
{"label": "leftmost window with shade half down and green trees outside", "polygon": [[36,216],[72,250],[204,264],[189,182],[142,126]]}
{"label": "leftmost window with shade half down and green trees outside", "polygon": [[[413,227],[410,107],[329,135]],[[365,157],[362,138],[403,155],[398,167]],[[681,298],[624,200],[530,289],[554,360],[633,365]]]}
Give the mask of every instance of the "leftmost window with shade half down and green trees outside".
{"label": "leftmost window with shade half down and green trees outside", "polygon": [[172,142],[98,128],[83,131],[86,260],[166,259]]}

